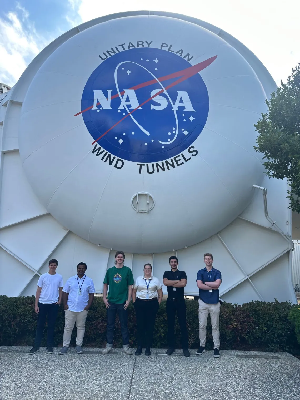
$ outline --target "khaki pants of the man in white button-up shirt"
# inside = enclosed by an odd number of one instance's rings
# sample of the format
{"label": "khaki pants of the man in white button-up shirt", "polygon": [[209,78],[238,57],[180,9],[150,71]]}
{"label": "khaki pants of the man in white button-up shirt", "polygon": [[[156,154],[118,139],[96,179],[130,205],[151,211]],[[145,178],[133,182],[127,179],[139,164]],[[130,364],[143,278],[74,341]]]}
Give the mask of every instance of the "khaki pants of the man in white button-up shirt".
{"label": "khaki pants of the man in white button-up shirt", "polygon": [[64,341],[63,346],[69,347],[71,341],[72,330],[76,322],[77,335],[76,335],[76,346],[82,346],[82,340],[84,337],[84,332],[86,330],[86,316],[88,311],[70,311],[65,310],[64,312]]}

